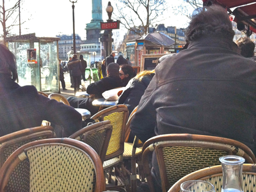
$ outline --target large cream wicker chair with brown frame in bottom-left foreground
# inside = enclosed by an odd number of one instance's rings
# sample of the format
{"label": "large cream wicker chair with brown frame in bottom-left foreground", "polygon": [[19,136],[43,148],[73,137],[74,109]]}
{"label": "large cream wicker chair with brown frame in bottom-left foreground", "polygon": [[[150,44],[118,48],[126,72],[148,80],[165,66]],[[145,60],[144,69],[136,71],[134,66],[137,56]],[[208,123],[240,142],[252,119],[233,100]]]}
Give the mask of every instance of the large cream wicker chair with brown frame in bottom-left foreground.
{"label": "large cream wicker chair with brown frame in bottom-left foreground", "polygon": [[[0,170],[0,191],[8,190],[13,170],[28,161],[29,186],[18,191],[97,191],[106,189],[99,156],[92,147],[70,138],[33,141],[17,149]],[[25,175],[24,175],[24,179]],[[27,187],[27,188],[25,188]]]}

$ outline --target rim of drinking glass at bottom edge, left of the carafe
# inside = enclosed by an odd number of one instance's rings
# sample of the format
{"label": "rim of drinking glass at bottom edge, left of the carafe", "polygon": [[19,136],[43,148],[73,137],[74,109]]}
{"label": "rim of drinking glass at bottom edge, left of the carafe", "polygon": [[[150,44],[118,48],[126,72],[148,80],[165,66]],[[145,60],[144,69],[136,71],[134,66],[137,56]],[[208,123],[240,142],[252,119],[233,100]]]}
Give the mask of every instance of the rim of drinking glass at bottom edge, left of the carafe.
{"label": "rim of drinking glass at bottom edge, left of the carafe", "polygon": [[188,180],[180,184],[180,192],[215,192],[214,186],[204,180]]}

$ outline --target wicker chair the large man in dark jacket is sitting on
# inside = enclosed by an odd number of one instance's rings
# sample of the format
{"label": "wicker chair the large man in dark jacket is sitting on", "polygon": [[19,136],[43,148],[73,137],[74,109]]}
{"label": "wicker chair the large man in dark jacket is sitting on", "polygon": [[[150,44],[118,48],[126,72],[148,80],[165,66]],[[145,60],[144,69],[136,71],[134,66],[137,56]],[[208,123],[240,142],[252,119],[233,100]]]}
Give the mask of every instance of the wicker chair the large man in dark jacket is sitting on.
{"label": "wicker chair the large man in dark jacket is sitting on", "polygon": [[256,162],[252,150],[236,140],[196,134],[155,136],[143,145],[143,169],[150,191],[154,191],[154,186],[148,157],[153,151],[156,152],[164,192],[185,175],[207,166],[220,164],[221,156],[242,156],[246,163]]}

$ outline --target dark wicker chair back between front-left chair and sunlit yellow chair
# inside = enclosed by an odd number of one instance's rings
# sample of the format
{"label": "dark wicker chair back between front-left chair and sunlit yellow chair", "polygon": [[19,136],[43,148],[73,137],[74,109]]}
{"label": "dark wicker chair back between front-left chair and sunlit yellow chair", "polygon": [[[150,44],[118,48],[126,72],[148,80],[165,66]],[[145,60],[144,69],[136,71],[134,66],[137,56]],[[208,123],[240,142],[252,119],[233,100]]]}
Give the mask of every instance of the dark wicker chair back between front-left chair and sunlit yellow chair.
{"label": "dark wicker chair back between front-left chair and sunlit yellow chair", "polygon": [[100,160],[103,163],[106,157],[111,132],[112,125],[110,121],[104,121],[88,125],[69,136],[69,138],[83,141],[90,145],[97,154],[99,154]]}

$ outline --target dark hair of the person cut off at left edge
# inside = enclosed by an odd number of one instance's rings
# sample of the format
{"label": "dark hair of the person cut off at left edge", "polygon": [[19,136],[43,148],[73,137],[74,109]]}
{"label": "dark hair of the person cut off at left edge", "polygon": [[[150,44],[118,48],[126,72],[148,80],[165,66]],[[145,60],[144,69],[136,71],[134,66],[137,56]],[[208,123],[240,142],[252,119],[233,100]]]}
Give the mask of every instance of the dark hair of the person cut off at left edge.
{"label": "dark hair of the person cut off at left edge", "polygon": [[13,81],[18,79],[16,58],[3,44],[0,44],[0,74],[7,74]]}

